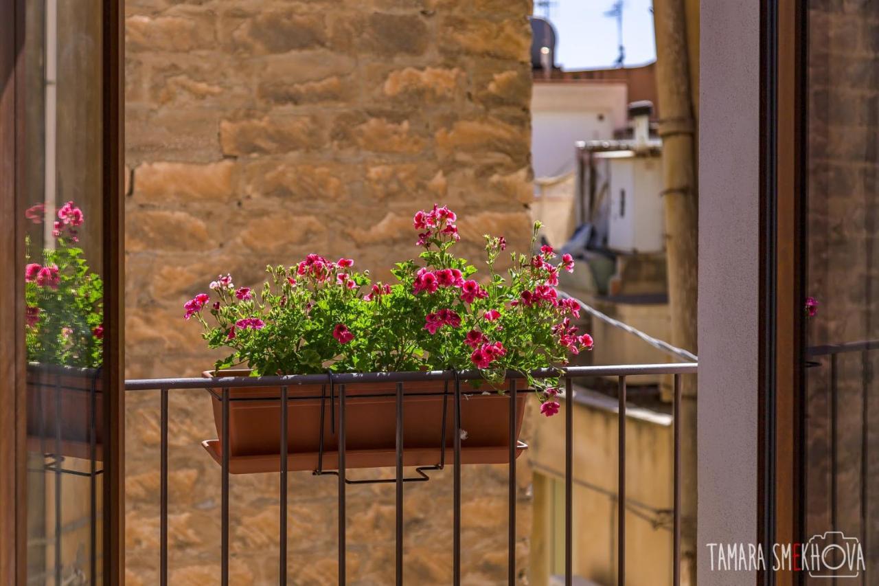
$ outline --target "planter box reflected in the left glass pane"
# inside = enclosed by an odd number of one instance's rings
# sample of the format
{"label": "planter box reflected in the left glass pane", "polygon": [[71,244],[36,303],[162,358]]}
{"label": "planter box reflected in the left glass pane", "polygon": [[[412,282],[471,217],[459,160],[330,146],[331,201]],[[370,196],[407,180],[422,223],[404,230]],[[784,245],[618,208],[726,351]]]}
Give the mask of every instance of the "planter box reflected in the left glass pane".
{"label": "planter box reflected in the left glass pane", "polygon": [[[92,421],[95,421],[95,458],[100,460],[103,388],[103,379],[97,369],[29,364],[27,449],[40,453],[60,453],[69,458],[91,459],[90,430]],[[59,423],[60,434],[57,428]]]}

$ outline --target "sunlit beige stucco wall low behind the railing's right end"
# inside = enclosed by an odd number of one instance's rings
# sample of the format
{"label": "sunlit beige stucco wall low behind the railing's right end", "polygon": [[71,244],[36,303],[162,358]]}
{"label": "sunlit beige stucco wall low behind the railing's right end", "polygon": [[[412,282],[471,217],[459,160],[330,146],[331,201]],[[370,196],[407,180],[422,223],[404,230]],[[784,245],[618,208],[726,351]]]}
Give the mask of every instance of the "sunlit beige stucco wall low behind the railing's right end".
{"label": "sunlit beige stucco wall low behind the railing's right end", "polygon": [[[616,583],[616,399],[590,393],[573,413],[571,516],[574,575],[596,584]],[[534,524],[530,570],[534,586],[564,575],[564,414],[535,421],[529,456],[534,461]],[[630,408],[626,423],[626,582],[672,583],[671,415]],[[555,564],[554,564],[554,561]]]}

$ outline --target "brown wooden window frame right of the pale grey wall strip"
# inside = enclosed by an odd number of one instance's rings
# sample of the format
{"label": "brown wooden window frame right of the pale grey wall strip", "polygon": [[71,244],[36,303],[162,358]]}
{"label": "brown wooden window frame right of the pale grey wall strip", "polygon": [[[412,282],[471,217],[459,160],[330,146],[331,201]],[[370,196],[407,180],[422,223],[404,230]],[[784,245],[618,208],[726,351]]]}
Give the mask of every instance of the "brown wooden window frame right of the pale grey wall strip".
{"label": "brown wooden window frame right of the pale grey wall strip", "polygon": [[[761,25],[759,540],[803,541],[805,0],[764,0]],[[771,550],[770,550],[771,551]],[[793,586],[802,573],[761,572]]]}

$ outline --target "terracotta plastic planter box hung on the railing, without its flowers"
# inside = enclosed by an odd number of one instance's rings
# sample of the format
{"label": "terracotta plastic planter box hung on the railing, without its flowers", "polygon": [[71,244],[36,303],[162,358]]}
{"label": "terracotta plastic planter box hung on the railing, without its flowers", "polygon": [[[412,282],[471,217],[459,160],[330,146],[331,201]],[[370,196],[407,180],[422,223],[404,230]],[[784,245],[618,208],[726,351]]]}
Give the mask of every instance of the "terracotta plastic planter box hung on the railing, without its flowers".
{"label": "terracotta plastic planter box hung on the railing, without its flowers", "polygon": [[[213,372],[203,373],[212,377]],[[247,370],[224,370],[223,376],[246,376]],[[418,396],[442,392],[443,381],[406,383],[403,398],[403,465],[436,465],[440,460],[443,397]],[[487,388],[483,386],[483,389]],[[287,397],[287,469],[317,469],[323,407],[323,470],[338,469],[338,387],[336,389],[336,433],[331,430],[330,385],[290,385]],[[446,464],[454,462],[454,385],[448,384],[446,401]],[[461,383],[461,392],[474,391]],[[222,395],[222,389],[214,389]],[[389,397],[366,397],[391,393]],[[377,468],[396,465],[396,383],[345,385],[345,468]],[[229,389],[229,472],[278,472],[280,470],[280,387]],[[295,399],[315,397],[316,399]],[[527,393],[516,398],[516,456],[527,445],[518,442],[525,414]],[[222,401],[213,395],[214,424],[222,437]],[[509,405],[507,395],[497,392],[461,397],[461,464],[503,464],[509,462]],[[202,442],[207,453],[222,462],[220,440]]]}

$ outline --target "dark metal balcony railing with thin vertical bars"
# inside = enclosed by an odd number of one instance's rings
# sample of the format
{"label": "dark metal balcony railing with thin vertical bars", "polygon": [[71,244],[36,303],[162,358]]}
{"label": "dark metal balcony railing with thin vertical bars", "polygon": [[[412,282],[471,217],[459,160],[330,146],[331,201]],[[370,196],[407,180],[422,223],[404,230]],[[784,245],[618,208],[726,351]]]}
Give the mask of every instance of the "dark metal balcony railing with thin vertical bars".
{"label": "dark metal balcony railing with thin vertical bars", "polygon": [[[573,409],[570,399],[573,397],[573,382],[576,379],[593,377],[616,377],[618,380],[618,423],[619,423],[619,478],[618,478],[618,531],[617,531],[617,576],[620,584],[625,584],[626,573],[626,380],[627,377],[639,375],[672,375],[674,377],[674,402],[673,402],[673,583],[679,585],[680,575],[680,449],[681,438],[679,429],[679,408],[681,400],[680,377],[687,374],[695,374],[696,363],[679,364],[641,364],[624,366],[580,366],[570,367],[563,370],[540,370],[535,371],[534,377],[556,377],[563,380],[564,393],[561,395],[568,401],[565,409],[565,583],[571,584],[572,573],[572,480],[573,480]],[[346,402],[352,399],[345,397],[345,385],[362,383],[392,383],[396,385],[396,392],[383,393],[378,396],[396,398],[396,478],[389,480],[396,483],[396,583],[403,583],[403,483],[409,480],[403,476],[403,398],[407,383],[423,381],[447,381],[445,389],[441,392],[432,393],[442,396],[444,400],[452,399],[454,429],[452,450],[454,452],[453,467],[453,490],[454,490],[454,526],[453,526],[453,576],[454,584],[461,583],[461,396],[472,393],[462,390],[461,383],[469,380],[481,379],[476,370],[467,371],[432,371],[432,372],[390,372],[390,373],[365,373],[365,374],[328,374],[328,375],[299,375],[287,377],[220,377],[220,378],[159,378],[126,381],[127,392],[159,391],[161,395],[161,474],[160,474],[160,581],[164,586],[168,583],[168,396],[171,391],[185,390],[212,390],[214,397],[222,401],[222,551],[221,551],[221,581],[223,586],[229,584],[229,405],[236,400],[248,400],[244,397],[232,397],[231,389],[241,387],[280,387],[279,400],[295,409],[295,402],[301,399],[327,399],[323,394],[316,396],[289,395],[289,388],[296,385],[331,385],[338,390],[331,399],[332,407],[338,413],[338,582],[345,583],[345,507],[346,491],[351,480],[346,479],[345,472],[345,407]],[[508,582],[513,584],[516,577],[515,539],[516,539],[516,398],[519,393],[533,392],[520,390],[523,377],[518,373],[508,373],[509,388],[505,392],[509,398],[509,508],[508,508]],[[449,389],[449,387],[452,387]],[[423,391],[418,392],[424,395]],[[359,395],[362,397],[362,395]],[[265,398],[258,398],[265,400]],[[252,400],[252,399],[251,399]],[[287,584],[287,409],[279,409],[280,416],[280,584]],[[323,414],[323,408],[321,413]],[[445,412],[444,412],[445,413]],[[445,416],[445,415],[444,415]],[[266,425],[270,422],[266,421]],[[445,425],[443,426],[445,429]],[[322,447],[323,450],[323,447]],[[442,439],[440,447],[441,457],[433,469],[441,469],[445,465],[446,438]]]}

